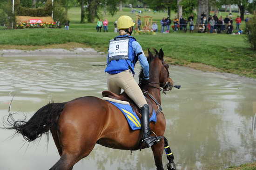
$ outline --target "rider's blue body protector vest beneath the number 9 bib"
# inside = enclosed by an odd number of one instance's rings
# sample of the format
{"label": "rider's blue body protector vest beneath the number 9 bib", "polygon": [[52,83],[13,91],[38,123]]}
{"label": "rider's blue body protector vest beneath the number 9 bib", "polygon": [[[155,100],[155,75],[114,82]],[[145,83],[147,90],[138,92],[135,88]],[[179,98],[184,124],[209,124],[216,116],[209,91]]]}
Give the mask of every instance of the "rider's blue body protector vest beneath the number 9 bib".
{"label": "rider's blue body protector vest beneath the number 9 bib", "polygon": [[[118,49],[120,48],[119,44],[122,44],[122,41],[128,41],[128,55],[127,52],[123,52],[125,50],[118,51]],[[136,41],[134,37],[122,35],[110,40],[108,49],[108,66],[106,67],[105,72],[108,72],[109,74],[117,74],[119,72],[123,72],[129,69],[133,74],[135,74],[134,66],[138,61],[138,56],[135,55],[135,52],[133,50],[133,41]],[[111,43],[114,43],[114,45],[111,45],[115,47],[114,50],[113,48],[112,50],[110,50]],[[125,46],[124,49],[127,49],[127,47]],[[117,54],[115,54],[115,50]],[[125,55],[121,55],[122,52],[125,53]]]}

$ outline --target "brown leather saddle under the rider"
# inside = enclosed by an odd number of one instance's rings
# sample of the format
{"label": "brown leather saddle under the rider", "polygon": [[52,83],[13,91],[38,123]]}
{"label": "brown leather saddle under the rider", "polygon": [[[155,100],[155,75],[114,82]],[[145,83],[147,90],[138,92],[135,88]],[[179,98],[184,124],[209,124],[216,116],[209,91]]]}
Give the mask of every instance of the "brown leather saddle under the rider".
{"label": "brown leather saddle under the rider", "polygon": [[[115,94],[113,92],[110,92],[110,91],[103,91],[102,92],[102,97],[113,98],[115,100],[120,101],[119,103],[121,103],[121,104],[123,104],[123,101],[128,102],[128,104],[132,107],[133,111],[135,111],[136,115],[139,118],[141,118],[140,109],[134,103],[134,101],[131,98],[129,98],[129,96],[125,92],[123,92],[121,95],[117,95],[117,94]],[[146,101],[147,101],[148,106],[149,106],[149,117],[151,117],[152,112],[153,112],[152,102],[150,100],[148,100],[148,98],[146,98]]]}

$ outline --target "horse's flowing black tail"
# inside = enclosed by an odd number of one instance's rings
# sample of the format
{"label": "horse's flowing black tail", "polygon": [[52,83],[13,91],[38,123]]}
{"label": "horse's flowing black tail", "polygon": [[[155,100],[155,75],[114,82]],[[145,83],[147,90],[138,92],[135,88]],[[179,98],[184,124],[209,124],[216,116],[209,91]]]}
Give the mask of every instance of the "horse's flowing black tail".
{"label": "horse's flowing black tail", "polygon": [[57,122],[61,111],[64,109],[66,103],[49,103],[38,111],[26,121],[15,120],[11,114],[9,107],[9,116],[4,121],[4,129],[14,129],[16,133],[21,133],[24,139],[28,142],[34,141],[41,137],[42,134],[47,133],[52,127],[57,127]]}

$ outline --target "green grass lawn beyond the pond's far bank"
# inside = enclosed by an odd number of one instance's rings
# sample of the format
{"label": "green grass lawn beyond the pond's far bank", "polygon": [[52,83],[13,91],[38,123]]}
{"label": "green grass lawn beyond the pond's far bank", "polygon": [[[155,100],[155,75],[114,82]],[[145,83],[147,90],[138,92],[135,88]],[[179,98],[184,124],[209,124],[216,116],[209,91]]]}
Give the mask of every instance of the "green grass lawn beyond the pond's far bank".
{"label": "green grass lawn beyond the pond's far bank", "polygon": [[[121,15],[135,14],[129,8],[108,18],[108,33],[97,33],[95,23],[80,24],[80,8],[71,8],[68,12],[70,30],[64,29],[23,29],[0,30],[0,45],[44,46],[77,42],[91,46],[98,51],[106,52],[109,39],[117,34],[114,32],[114,22]],[[143,13],[153,16],[158,24],[167,13]],[[172,12],[171,18],[175,13]],[[236,16],[236,14],[234,14]],[[159,25],[160,28],[160,25]],[[256,52],[249,49],[244,41],[244,35],[200,34],[200,33],[169,33],[156,35],[134,35],[144,51],[147,48],[163,49],[166,58],[172,59],[173,64],[187,65],[203,63],[218,68],[221,72],[230,72],[256,78]]]}

